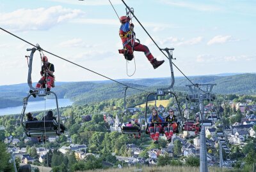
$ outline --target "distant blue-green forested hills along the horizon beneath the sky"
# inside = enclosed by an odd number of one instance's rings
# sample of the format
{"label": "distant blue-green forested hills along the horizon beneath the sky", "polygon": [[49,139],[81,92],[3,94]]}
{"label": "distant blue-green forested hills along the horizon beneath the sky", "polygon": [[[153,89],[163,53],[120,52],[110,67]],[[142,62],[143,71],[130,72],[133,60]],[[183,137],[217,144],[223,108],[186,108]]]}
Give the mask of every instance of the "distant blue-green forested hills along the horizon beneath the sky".
{"label": "distant blue-green forested hills along the horizon beneath the sky", "polygon": [[[256,74],[246,73],[228,76],[192,76],[193,83],[216,83],[213,92],[216,94],[255,94]],[[170,78],[145,78],[118,80],[131,87],[155,91],[158,87],[168,87]],[[191,84],[184,77],[175,78],[175,91],[185,91],[186,84]],[[33,84],[35,85],[35,83]],[[29,87],[26,83],[0,86],[0,108],[22,105],[22,98],[27,95]],[[86,104],[124,96],[123,85],[111,81],[97,82],[56,82],[52,91],[58,98],[68,98],[75,104]],[[127,96],[138,94],[138,90],[128,89]],[[33,99],[31,99],[33,101]]]}

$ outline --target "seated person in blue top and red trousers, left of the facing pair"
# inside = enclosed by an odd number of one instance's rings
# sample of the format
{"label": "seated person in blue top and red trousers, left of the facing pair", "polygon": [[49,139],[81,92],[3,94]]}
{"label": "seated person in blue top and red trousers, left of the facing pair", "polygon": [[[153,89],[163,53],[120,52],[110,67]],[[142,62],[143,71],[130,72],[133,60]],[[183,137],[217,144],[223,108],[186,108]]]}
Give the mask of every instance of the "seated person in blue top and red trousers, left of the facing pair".
{"label": "seated person in blue top and red trousers, left of the facing pair", "polygon": [[158,115],[156,109],[153,109],[152,116],[148,118],[148,129],[150,138],[154,140],[154,143],[158,143],[160,131],[163,131],[163,124],[154,124],[155,122],[164,122],[164,119],[161,115]]}

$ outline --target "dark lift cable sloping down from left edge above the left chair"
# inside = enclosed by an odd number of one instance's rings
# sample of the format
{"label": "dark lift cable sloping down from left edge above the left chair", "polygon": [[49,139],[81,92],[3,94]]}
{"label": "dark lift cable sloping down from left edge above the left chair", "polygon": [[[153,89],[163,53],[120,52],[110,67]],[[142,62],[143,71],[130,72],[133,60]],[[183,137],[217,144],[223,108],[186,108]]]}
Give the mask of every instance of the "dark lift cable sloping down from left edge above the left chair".
{"label": "dark lift cable sloping down from left edge above the left chair", "polygon": [[[15,34],[12,34],[11,32],[6,31],[6,30],[3,29],[2,27],[0,27],[0,29],[3,30],[4,32],[7,32],[8,34],[11,34],[12,36],[15,36],[16,38],[18,38],[18,39],[20,39],[20,40],[22,40],[22,41],[28,43],[29,45],[32,45],[33,47],[36,47],[36,45],[33,45],[32,43],[29,43],[29,42],[26,41],[25,39],[22,39],[22,38],[20,38],[19,36],[16,36]],[[37,48],[37,47],[36,47],[36,48]],[[43,50],[43,49],[41,48],[41,50]],[[59,55],[53,54],[53,53],[51,53],[51,52],[48,52],[47,50],[44,50],[44,52],[47,52],[48,54],[51,54],[51,55],[53,55],[53,56],[55,56],[55,57],[58,57],[58,58],[62,59],[63,61],[70,62],[70,63],[72,63],[72,64],[74,64],[74,65],[76,65],[76,66],[78,66],[78,67],[80,67],[80,68],[86,69],[87,71],[90,71],[90,72],[92,72],[92,73],[95,73],[96,75],[100,75],[100,76],[102,76],[102,77],[104,77],[104,78],[107,78],[108,80],[111,80],[111,81],[113,81],[113,82],[119,83],[120,85],[124,85],[125,87],[129,87],[129,88],[134,89],[134,90],[140,90],[140,91],[142,91],[142,92],[149,92],[149,91],[147,91],[147,90],[138,89],[138,88],[135,88],[135,87],[131,87],[131,86],[129,86],[129,85],[126,85],[125,83],[118,82],[117,80],[114,80],[114,79],[112,79],[112,78],[109,78],[108,76],[105,76],[105,75],[102,75],[102,74],[100,74],[100,73],[97,73],[97,72],[93,71],[92,69],[85,68],[84,66],[81,66],[81,65],[79,65],[79,64],[76,64],[75,62],[68,61],[67,59],[65,59],[65,58],[63,58],[63,57],[60,57]]]}

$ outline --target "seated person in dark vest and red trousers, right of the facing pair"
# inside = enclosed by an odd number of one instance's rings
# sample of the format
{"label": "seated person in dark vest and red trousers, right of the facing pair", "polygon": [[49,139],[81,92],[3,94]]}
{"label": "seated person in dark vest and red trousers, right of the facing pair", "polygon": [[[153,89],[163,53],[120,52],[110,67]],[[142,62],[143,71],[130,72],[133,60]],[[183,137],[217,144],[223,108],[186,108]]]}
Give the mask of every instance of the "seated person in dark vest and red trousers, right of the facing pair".
{"label": "seated person in dark vest and red trousers, right of the facing pair", "polygon": [[173,131],[176,131],[178,126],[173,109],[169,110],[168,116],[165,118],[165,122],[172,122],[170,124],[164,125],[164,134],[167,138],[167,141],[170,143],[172,141]]}

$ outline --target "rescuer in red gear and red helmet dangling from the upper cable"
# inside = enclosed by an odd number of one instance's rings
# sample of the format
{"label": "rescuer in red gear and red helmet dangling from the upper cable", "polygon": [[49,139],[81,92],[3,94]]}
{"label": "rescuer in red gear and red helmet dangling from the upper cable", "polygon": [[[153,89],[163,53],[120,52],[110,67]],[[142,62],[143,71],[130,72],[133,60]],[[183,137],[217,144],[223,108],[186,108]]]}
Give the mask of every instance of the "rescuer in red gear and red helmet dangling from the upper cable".
{"label": "rescuer in red gear and red helmet dangling from the upper cable", "polygon": [[147,46],[135,41],[135,33],[133,32],[134,24],[130,24],[130,20],[131,18],[126,16],[120,17],[121,26],[119,29],[119,36],[122,39],[124,49],[119,50],[119,53],[124,54],[125,59],[131,61],[133,59],[133,51],[144,52],[148,61],[150,61],[150,63],[152,64],[153,68],[158,68],[159,66],[161,66],[161,64],[163,64],[164,61],[157,61],[157,59],[154,58]]}

